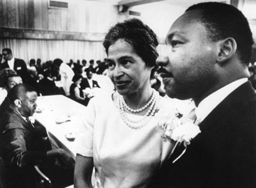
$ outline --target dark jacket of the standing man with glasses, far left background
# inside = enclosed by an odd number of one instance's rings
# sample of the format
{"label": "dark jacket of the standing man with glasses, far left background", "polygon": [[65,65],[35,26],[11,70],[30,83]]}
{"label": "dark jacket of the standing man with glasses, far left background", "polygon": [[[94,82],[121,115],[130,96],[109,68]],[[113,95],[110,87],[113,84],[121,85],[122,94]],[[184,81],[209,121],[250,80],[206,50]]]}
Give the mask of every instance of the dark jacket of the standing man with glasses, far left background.
{"label": "dark jacket of the standing man with glasses, far left background", "polygon": [[[7,62],[1,64],[1,70],[4,68],[10,68]],[[14,70],[22,77],[24,83],[29,81],[29,72],[24,60],[14,58]]]}

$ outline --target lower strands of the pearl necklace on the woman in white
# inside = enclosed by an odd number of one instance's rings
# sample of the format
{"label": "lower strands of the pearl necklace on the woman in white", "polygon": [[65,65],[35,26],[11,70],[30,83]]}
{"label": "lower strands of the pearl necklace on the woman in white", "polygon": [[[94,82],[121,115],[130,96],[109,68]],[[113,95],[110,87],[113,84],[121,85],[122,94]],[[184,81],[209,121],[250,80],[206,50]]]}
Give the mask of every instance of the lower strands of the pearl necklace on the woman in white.
{"label": "lower strands of the pearl necklace on the woman in white", "polygon": [[147,110],[145,115],[142,116],[138,120],[133,120],[133,119],[130,119],[125,114],[124,108],[126,108],[126,106],[123,103],[123,97],[122,96],[119,97],[119,106],[118,106],[119,107],[119,113],[120,113],[120,116],[121,116],[123,122],[128,127],[132,128],[132,129],[140,129],[140,128],[144,127],[151,120],[151,118],[155,115],[156,109],[157,109],[157,106],[158,106],[158,102],[159,102],[158,92],[153,90],[153,94],[152,94],[151,98],[152,98],[152,102],[149,104],[150,108]]}

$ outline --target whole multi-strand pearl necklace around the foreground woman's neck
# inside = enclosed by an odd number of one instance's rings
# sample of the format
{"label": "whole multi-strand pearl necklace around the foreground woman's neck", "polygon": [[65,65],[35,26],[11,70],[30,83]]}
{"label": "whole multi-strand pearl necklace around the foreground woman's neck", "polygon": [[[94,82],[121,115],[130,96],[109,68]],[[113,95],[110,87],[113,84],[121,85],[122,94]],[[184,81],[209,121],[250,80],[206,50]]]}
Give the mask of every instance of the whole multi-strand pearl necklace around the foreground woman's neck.
{"label": "whole multi-strand pearl necklace around the foreground woman's neck", "polygon": [[[153,90],[152,96],[150,98],[150,100],[140,109],[134,110],[131,109],[125,102],[123,96],[119,97],[119,113],[120,116],[123,120],[123,122],[129,126],[132,129],[140,129],[143,126],[145,126],[148,121],[150,121],[150,119],[155,115],[156,113],[156,109],[157,109],[157,104],[159,101],[159,94],[157,91]],[[149,107],[149,108],[148,108]],[[133,112],[133,113],[139,113],[144,111],[146,108],[148,108],[147,112],[145,113],[144,116],[142,116],[140,119],[138,120],[133,120],[130,119],[126,114],[124,109]]]}

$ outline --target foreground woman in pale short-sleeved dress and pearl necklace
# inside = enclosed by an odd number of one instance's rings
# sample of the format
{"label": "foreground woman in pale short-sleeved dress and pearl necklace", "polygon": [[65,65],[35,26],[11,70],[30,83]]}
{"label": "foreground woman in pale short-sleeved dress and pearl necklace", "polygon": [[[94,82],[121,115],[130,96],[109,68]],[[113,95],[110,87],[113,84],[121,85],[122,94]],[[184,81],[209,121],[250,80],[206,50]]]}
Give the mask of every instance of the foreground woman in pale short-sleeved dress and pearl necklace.
{"label": "foreground woman in pale short-sleeved dress and pearl necklace", "polygon": [[76,138],[75,187],[146,187],[173,147],[157,130],[170,106],[150,85],[157,37],[131,19],[111,28],[103,45],[117,92],[89,102]]}

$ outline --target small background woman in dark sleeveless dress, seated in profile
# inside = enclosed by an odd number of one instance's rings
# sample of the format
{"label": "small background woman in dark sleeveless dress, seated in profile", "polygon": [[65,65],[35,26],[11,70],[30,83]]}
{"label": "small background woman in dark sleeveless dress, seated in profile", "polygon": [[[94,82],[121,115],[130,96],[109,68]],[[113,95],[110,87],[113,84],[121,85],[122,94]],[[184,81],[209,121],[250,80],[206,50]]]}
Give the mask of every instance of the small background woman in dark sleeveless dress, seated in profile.
{"label": "small background woman in dark sleeveless dress, seated in profile", "polygon": [[73,84],[70,86],[70,98],[79,102],[84,103],[84,98],[82,96],[82,92],[80,90],[80,84],[82,81],[82,76],[80,74],[75,74],[72,78]]}

